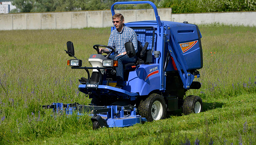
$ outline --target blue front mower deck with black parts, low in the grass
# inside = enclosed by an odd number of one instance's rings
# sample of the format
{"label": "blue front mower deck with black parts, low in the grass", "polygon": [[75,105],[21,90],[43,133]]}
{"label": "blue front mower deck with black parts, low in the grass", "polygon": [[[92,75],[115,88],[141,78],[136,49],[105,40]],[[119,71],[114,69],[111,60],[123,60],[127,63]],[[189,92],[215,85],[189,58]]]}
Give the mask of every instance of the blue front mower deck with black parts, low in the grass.
{"label": "blue front mower deck with black parts, low in the grass", "polygon": [[53,109],[56,113],[65,113],[72,115],[84,115],[86,112],[90,114],[93,123],[93,129],[101,127],[128,127],[137,123],[146,122],[146,118],[136,115],[137,109],[134,106],[88,106],[78,103],[63,104],[53,103],[52,105],[44,105],[43,108]]}

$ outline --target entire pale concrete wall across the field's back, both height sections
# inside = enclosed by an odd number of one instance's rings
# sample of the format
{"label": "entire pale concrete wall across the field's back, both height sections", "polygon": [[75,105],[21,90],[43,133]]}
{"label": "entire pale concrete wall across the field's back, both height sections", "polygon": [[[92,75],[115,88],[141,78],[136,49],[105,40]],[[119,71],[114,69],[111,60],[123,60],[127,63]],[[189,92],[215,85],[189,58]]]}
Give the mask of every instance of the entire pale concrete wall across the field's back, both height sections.
{"label": "entire pale concrete wall across the field's back, both height sections", "polygon": [[[125,23],[132,21],[155,20],[153,9],[116,10],[122,13]],[[161,20],[193,24],[223,23],[256,26],[256,12],[225,12],[172,14],[171,8],[158,9]],[[20,29],[70,29],[84,27],[113,26],[111,11],[81,11],[56,13],[0,14],[0,30]]]}

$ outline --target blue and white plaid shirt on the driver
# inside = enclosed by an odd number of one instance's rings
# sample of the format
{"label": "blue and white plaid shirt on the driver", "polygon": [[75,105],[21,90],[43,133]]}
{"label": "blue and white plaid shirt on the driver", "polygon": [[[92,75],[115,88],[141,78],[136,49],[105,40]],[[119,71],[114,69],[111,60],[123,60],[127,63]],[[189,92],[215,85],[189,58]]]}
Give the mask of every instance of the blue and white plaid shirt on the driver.
{"label": "blue and white plaid shirt on the driver", "polygon": [[120,54],[126,51],[124,44],[128,41],[131,41],[133,43],[135,52],[137,52],[137,35],[132,28],[126,27],[124,25],[120,33],[117,31],[117,29],[114,29],[111,32],[108,46],[114,48],[115,52]]}

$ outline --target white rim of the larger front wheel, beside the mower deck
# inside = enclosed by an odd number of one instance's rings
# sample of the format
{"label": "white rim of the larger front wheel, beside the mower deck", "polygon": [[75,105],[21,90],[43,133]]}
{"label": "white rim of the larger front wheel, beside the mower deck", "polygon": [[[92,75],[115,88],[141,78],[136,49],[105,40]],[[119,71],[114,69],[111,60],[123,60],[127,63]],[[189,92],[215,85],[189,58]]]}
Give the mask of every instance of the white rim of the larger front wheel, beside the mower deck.
{"label": "white rim of the larger front wheel, beside the mower deck", "polygon": [[151,107],[151,115],[153,120],[160,120],[163,114],[163,106],[160,101],[154,101]]}

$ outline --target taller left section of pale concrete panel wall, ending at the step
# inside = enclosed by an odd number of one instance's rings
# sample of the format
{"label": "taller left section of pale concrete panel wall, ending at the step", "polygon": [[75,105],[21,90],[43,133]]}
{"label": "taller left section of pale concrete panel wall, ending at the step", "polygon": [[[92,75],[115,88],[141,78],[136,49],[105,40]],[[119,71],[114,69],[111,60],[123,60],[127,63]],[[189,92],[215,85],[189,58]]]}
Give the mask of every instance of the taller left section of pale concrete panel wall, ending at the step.
{"label": "taller left section of pale concrete panel wall, ending at the step", "polygon": [[[153,9],[117,10],[125,17],[125,23],[155,20]],[[172,9],[158,9],[163,20],[171,20]],[[81,11],[57,13],[0,14],[0,30],[70,29],[113,26],[111,11]]]}

